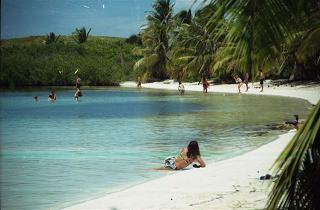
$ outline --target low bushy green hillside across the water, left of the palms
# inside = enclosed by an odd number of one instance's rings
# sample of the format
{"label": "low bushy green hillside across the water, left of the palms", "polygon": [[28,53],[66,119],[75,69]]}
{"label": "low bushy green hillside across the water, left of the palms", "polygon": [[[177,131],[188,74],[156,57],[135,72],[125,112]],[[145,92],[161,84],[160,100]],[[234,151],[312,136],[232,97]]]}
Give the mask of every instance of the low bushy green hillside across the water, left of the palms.
{"label": "low bushy green hillside across the water, left of the palms", "polygon": [[[88,32],[84,32],[88,34]],[[74,85],[75,71],[85,85],[115,85],[136,78],[136,44],[126,39],[90,36],[28,37],[1,41],[1,86]]]}

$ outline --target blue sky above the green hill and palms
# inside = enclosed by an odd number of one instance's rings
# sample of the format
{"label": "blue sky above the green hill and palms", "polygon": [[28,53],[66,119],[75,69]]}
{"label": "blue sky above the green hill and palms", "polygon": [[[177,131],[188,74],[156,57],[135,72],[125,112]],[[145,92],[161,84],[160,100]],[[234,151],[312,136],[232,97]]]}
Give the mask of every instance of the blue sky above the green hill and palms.
{"label": "blue sky above the green hill and palms", "polygon": [[[174,12],[195,0],[171,0]],[[1,39],[70,35],[91,28],[91,35],[129,37],[140,31],[154,0],[1,0]],[[199,4],[199,0],[197,4]],[[193,5],[194,10],[196,5]]]}

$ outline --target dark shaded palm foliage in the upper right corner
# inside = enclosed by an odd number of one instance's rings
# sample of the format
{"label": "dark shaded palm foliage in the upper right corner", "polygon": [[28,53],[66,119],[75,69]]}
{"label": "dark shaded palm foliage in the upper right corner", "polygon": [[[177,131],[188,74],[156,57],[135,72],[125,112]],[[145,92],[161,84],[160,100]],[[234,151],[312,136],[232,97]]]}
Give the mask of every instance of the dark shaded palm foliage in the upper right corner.
{"label": "dark shaded palm foliage in the upper right corner", "polygon": [[317,1],[289,1],[295,14],[295,30],[285,40],[279,71],[289,70],[298,79],[319,78],[320,65],[320,4]]}

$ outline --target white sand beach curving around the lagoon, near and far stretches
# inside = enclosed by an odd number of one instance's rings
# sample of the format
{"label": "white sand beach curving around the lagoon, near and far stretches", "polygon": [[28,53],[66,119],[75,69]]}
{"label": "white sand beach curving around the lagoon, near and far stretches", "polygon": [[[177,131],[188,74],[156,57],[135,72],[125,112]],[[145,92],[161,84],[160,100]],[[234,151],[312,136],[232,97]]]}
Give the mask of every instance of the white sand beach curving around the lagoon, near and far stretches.
{"label": "white sand beach curving around the lagoon, near and far stretches", "polygon": [[[169,83],[169,82],[166,82]],[[135,87],[133,82],[123,84]],[[250,84],[251,86],[251,84]],[[177,89],[177,83],[143,84],[143,88]],[[186,91],[202,91],[202,86],[185,84]],[[244,86],[242,87],[244,91]],[[310,87],[265,88],[263,93],[251,87],[250,94],[297,97],[316,104],[320,85]],[[209,92],[237,93],[236,85],[210,86]],[[256,150],[206,168],[177,171],[135,187],[108,194],[67,209],[263,209],[272,181],[260,181],[294,136],[290,131]],[[166,172],[164,172],[166,173]]]}

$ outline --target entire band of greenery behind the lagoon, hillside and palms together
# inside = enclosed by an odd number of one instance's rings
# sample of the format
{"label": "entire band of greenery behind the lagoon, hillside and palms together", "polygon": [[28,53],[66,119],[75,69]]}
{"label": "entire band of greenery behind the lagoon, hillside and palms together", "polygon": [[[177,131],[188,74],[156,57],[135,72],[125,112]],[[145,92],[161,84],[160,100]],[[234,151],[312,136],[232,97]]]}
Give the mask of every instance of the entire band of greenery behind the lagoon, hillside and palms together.
{"label": "entire band of greenery behind the lagoon, hillside and palms together", "polygon": [[123,80],[230,80],[249,73],[267,78],[320,80],[320,4],[317,0],[198,0],[194,11],[155,0],[137,35],[128,39],[50,33],[1,41],[1,86],[71,85],[74,72],[88,85]]}

